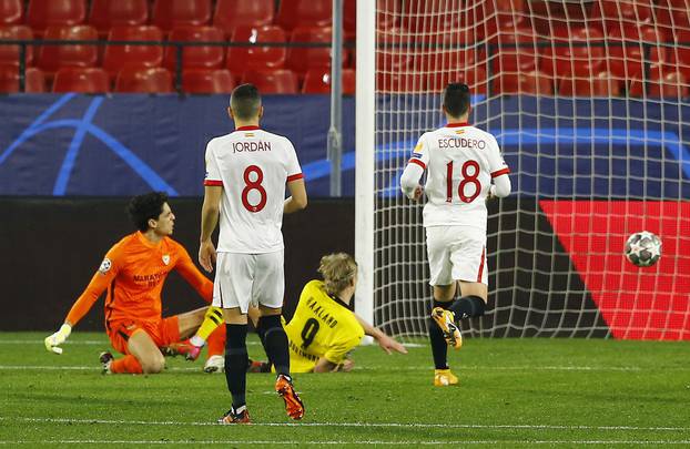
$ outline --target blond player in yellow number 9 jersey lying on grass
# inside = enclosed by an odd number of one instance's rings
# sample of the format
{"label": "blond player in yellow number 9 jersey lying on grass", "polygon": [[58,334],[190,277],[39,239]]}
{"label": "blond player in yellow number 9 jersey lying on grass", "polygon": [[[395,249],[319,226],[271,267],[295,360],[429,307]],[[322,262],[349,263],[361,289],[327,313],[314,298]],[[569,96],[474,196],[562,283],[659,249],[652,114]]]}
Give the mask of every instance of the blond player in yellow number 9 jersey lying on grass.
{"label": "blond player in yellow number 9 jersey lying on grass", "polygon": [[[349,351],[359,344],[365,334],[374,337],[388,354],[407,354],[402,344],[349,309],[357,284],[357,264],[351,255],[338,253],[323,256],[318,273],[324,280],[311,280],[304,286],[295,315],[284,325],[290,346],[291,371],[349,371],[354,367]],[[207,331],[209,328],[210,326],[204,326],[203,330]],[[201,346],[203,337],[203,331],[200,331],[191,341]],[[271,365],[254,361],[248,365],[248,370],[267,373]]]}

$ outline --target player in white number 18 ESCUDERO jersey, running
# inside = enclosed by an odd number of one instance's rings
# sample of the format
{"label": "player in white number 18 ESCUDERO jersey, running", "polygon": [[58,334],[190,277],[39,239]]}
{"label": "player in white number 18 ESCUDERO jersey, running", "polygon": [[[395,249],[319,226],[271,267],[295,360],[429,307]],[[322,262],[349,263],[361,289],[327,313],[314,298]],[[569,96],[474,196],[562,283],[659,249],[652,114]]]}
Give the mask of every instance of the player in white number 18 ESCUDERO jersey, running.
{"label": "player in white number 18 ESCUDERO jersey, running", "polygon": [[[485,202],[510,194],[510,170],[496,139],[467,123],[469,100],[466,84],[448,84],[443,99],[448,123],[419,137],[400,177],[407,197],[418,201],[423,192],[427,196],[424,227],[434,289],[429,339],[436,386],[458,384],[447,364],[448,345],[459,349],[458,322],[484,315],[486,307]],[[458,285],[460,297],[454,300]]]}

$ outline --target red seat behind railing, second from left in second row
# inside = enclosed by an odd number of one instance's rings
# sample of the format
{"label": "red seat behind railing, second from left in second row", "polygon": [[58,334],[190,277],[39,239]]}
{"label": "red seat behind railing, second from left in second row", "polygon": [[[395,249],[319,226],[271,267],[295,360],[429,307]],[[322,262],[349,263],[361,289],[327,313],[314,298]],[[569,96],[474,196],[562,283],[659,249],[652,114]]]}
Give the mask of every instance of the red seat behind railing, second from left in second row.
{"label": "red seat behind railing, second from left in second row", "polygon": [[[45,30],[44,39],[97,41],[99,33],[91,25],[51,25]],[[63,67],[94,67],[98,57],[97,45],[43,45],[38,65],[47,72],[54,72]]]}

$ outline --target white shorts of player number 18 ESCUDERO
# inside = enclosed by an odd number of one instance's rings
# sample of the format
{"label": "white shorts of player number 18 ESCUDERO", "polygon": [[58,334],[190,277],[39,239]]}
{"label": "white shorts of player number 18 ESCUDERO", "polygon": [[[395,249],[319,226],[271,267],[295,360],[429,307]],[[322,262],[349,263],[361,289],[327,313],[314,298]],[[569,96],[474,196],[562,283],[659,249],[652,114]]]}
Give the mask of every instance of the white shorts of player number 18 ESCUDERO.
{"label": "white shorts of player number 18 ESCUDERO", "polygon": [[426,251],[432,285],[455,280],[488,285],[486,233],[468,226],[429,226]]}

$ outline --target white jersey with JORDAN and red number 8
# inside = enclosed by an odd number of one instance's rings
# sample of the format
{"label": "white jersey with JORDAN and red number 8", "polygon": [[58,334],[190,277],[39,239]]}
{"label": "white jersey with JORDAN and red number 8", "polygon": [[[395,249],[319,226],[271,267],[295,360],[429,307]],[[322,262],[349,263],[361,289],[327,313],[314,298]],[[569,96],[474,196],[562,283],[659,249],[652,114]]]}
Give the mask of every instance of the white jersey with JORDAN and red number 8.
{"label": "white jersey with JORDAN and red number 8", "polygon": [[257,126],[239,127],[209,142],[206,167],[205,185],[223,186],[217,251],[281,251],[285,184],[301,176],[290,140]]}

